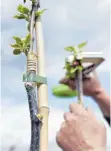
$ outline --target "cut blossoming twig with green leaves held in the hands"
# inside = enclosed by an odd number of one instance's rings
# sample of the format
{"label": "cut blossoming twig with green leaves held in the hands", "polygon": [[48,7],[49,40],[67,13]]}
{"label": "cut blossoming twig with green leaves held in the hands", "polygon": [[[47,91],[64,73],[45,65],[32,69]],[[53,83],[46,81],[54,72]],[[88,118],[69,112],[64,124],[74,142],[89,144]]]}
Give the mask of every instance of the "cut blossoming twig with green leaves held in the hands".
{"label": "cut blossoming twig with green leaves held in the hands", "polygon": [[83,65],[82,65],[82,48],[87,42],[82,42],[77,46],[68,46],[66,51],[73,53],[65,61],[66,77],[73,78],[76,81],[76,89],[78,91],[78,103],[83,105]]}

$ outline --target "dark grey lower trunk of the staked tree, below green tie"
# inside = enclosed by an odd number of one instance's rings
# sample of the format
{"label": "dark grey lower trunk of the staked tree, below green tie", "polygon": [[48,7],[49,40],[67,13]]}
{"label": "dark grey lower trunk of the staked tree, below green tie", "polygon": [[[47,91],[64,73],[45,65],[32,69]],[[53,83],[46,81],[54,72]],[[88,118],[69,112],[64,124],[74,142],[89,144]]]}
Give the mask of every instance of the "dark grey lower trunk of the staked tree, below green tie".
{"label": "dark grey lower trunk of the staked tree, below green tie", "polygon": [[31,119],[31,144],[30,151],[39,151],[40,123],[37,118],[36,87],[30,83],[25,83],[28,96],[30,119]]}

